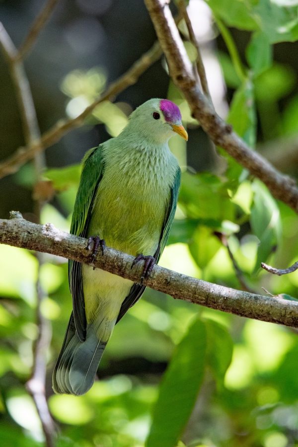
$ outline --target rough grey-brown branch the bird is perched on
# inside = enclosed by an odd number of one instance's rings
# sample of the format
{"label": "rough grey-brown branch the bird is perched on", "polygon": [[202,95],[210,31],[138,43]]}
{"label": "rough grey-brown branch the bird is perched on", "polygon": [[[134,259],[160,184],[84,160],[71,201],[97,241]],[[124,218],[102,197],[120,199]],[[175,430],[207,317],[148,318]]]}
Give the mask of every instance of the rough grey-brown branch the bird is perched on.
{"label": "rough grey-brown branch the bird is perched on", "polygon": [[[12,212],[11,220],[0,220],[0,243],[64,256],[90,264],[87,240],[56,229],[52,224],[33,224],[19,213]],[[134,282],[140,282],[142,265],[131,268],[133,256],[106,248],[99,254],[94,267],[106,270]],[[271,298],[230,289],[154,266],[151,276],[144,280],[151,289],[173,298],[183,299],[213,309],[240,316],[284,324],[298,328],[298,302]]]}

